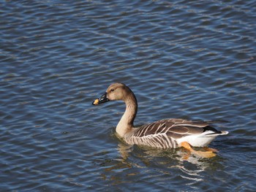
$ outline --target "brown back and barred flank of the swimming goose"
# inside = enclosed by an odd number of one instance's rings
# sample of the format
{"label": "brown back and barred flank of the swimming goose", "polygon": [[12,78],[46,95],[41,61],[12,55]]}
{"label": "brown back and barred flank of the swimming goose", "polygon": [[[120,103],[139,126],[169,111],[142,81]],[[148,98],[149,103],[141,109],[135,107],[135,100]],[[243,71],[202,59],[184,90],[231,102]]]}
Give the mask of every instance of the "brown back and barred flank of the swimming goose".
{"label": "brown back and barred flank of the swimming goose", "polygon": [[[203,134],[221,134],[215,128],[209,126],[214,121],[192,121],[183,119],[165,119],[150,123],[146,126],[135,128],[131,134],[127,134],[124,140],[129,144],[148,145],[158,148],[178,147],[177,139],[182,137]],[[215,136],[213,137],[213,139]]]}

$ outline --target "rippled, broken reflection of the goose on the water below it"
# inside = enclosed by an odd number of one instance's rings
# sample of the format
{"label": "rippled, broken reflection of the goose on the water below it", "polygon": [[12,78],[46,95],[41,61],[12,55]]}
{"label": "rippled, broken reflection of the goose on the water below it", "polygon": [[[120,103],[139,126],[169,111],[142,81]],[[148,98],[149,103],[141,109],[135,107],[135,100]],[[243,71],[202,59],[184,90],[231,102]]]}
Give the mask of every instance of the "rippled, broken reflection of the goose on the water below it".
{"label": "rippled, broken reflection of the goose on the water below it", "polygon": [[[199,158],[189,154],[183,148],[149,149],[127,145],[118,140],[117,151],[116,158],[104,159],[104,162],[100,164],[104,167],[102,179],[109,180],[112,185],[130,183],[129,177],[140,180],[140,172],[145,172],[148,180],[158,182],[176,180],[177,183],[185,181],[185,185],[197,185],[205,180],[202,173],[206,170],[211,172],[223,168],[222,158],[218,156],[209,159]],[[164,175],[164,177],[159,178],[159,175]]]}

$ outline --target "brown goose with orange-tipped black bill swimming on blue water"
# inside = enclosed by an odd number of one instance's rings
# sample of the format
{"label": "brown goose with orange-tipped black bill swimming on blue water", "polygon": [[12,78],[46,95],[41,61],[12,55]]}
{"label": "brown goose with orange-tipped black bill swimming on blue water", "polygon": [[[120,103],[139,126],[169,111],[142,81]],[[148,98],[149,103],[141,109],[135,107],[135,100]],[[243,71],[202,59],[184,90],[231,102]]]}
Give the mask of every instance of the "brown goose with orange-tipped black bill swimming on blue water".
{"label": "brown goose with orange-tipped black bill swimming on blue water", "polygon": [[126,110],[116,126],[116,133],[129,145],[146,145],[157,148],[184,147],[191,153],[203,158],[215,156],[216,150],[208,148],[207,151],[194,150],[192,147],[206,147],[218,135],[228,134],[227,131],[217,131],[209,126],[220,121],[192,121],[183,119],[158,120],[148,125],[135,128],[138,103],[135,94],[127,85],[117,82],[110,85],[107,91],[93,101],[94,105],[107,101],[123,100]]}

